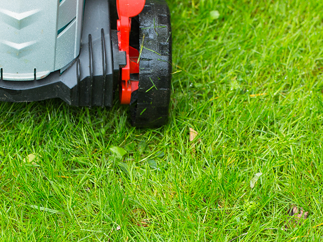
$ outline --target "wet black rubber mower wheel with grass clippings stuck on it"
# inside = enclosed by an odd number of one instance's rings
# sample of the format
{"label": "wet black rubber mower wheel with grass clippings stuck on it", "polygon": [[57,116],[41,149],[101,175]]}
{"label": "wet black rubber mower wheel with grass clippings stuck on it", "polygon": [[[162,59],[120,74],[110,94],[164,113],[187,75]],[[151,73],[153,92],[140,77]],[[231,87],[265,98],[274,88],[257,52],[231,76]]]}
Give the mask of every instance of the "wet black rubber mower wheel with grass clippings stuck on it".
{"label": "wet black rubber mower wheel with grass clippings stuck on it", "polygon": [[156,128],[167,123],[171,98],[172,30],[164,0],[146,0],[139,15],[139,89],[131,96],[132,124]]}

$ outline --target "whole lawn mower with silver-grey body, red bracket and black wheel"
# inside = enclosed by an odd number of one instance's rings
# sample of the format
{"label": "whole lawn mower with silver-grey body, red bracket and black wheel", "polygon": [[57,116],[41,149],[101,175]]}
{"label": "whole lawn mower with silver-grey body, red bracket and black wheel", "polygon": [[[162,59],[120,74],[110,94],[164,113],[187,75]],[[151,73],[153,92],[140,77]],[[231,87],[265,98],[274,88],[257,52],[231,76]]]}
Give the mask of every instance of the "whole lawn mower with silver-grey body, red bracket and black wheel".
{"label": "whole lawn mower with silver-grey body, red bracket and black wheel", "polygon": [[0,101],[130,105],[135,127],[167,122],[172,31],[165,0],[1,0]]}

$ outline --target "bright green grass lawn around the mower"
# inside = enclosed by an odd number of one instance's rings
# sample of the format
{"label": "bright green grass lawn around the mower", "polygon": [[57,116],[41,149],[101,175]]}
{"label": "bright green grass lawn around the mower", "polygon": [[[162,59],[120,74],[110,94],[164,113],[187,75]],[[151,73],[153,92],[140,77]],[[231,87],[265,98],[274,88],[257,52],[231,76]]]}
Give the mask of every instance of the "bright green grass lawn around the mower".
{"label": "bright green grass lawn around the mower", "polygon": [[[0,104],[0,240],[323,236],[323,2],[168,2],[167,126],[134,129],[117,101]],[[309,216],[285,228],[293,205]]]}

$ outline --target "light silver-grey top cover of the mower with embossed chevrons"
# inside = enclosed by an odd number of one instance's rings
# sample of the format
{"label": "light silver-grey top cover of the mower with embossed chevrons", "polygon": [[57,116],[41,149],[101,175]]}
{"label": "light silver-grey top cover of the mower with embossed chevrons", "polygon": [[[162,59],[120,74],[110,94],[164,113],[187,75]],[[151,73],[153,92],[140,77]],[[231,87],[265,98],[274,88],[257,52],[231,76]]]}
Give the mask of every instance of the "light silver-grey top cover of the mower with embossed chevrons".
{"label": "light silver-grey top cover of the mower with embossed chevrons", "polygon": [[41,79],[80,52],[84,0],[0,0],[3,80]]}

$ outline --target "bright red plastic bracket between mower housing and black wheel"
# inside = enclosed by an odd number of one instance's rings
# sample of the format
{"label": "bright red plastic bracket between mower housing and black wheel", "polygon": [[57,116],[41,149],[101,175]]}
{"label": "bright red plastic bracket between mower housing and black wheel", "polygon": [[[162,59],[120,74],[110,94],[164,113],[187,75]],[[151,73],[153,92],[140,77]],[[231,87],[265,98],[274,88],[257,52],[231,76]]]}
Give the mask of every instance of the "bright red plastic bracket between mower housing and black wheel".
{"label": "bright red plastic bracket between mower housing and black wheel", "polygon": [[[130,74],[139,73],[139,52],[129,46],[131,18],[137,16],[143,10],[145,0],[117,0],[117,21],[119,50],[125,51],[127,65],[122,68],[120,85],[120,102],[129,104],[131,93],[138,89],[138,81],[131,81]],[[135,89],[136,88],[136,89]],[[134,90],[135,89],[135,90]]]}

